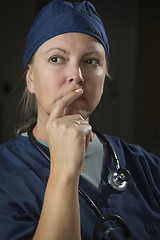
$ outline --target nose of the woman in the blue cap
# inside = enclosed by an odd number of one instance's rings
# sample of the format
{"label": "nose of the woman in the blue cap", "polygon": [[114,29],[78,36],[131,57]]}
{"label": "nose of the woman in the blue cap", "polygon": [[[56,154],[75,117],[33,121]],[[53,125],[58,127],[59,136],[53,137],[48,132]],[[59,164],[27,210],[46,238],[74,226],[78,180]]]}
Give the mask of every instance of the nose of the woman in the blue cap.
{"label": "nose of the woman in the blue cap", "polygon": [[69,84],[83,84],[84,83],[84,78],[83,78],[83,74],[82,74],[82,70],[80,68],[80,66],[72,66],[69,70],[68,70],[68,74],[66,77],[66,81]]}

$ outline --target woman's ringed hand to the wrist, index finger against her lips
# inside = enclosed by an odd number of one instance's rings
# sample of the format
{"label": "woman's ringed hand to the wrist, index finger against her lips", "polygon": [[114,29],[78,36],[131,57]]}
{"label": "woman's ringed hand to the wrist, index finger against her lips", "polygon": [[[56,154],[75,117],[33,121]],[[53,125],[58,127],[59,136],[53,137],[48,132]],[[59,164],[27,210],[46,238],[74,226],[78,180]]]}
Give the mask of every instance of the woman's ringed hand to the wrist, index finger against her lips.
{"label": "woman's ringed hand to the wrist, index finger against her lips", "polygon": [[64,112],[82,94],[83,90],[78,89],[57,100],[48,119],[46,130],[54,174],[79,176],[81,173],[92,128],[80,114],[64,116]]}

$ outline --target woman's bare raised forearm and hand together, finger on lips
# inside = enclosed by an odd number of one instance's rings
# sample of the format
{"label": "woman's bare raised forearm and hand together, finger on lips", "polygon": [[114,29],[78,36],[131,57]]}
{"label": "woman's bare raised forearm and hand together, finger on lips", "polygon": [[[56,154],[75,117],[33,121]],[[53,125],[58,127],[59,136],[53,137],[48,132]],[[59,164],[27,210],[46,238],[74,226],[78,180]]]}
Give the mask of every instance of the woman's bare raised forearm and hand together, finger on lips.
{"label": "woman's bare raised forearm and hand together, finger on lips", "polygon": [[46,125],[51,167],[34,240],[81,240],[78,184],[91,126],[80,114],[64,113],[82,94],[81,89],[59,99]]}

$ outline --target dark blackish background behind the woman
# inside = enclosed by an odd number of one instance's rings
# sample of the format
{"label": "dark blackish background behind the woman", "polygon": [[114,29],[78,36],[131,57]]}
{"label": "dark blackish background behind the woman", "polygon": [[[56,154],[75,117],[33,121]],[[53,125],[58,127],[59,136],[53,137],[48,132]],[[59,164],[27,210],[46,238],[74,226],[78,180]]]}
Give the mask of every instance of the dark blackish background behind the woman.
{"label": "dark blackish background behind the woman", "polygon": [[[24,89],[22,57],[29,27],[49,1],[2,1],[0,7],[0,142],[13,137]],[[74,2],[74,1],[72,1]],[[110,43],[110,74],[92,123],[160,156],[160,14],[158,1],[91,1]]]}

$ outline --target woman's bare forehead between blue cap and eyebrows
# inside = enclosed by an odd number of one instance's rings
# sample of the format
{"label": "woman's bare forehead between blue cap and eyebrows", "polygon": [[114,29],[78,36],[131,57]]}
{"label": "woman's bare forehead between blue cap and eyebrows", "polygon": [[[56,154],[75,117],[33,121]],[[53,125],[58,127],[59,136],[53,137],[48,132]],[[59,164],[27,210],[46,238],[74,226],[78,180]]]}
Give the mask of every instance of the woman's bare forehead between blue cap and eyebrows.
{"label": "woman's bare forehead between blue cap and eyebrows", "polygon": [[78,51],[97,51],[105,54],[104,47],[94,37],[84,33],[64,33],[55,36],[44,42],[38,49],[41,52],[48,52],[52,48],[61,48],[64,50],[78,50]]}

